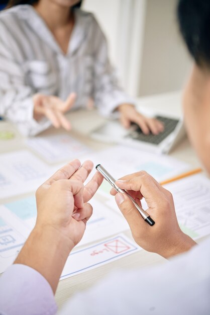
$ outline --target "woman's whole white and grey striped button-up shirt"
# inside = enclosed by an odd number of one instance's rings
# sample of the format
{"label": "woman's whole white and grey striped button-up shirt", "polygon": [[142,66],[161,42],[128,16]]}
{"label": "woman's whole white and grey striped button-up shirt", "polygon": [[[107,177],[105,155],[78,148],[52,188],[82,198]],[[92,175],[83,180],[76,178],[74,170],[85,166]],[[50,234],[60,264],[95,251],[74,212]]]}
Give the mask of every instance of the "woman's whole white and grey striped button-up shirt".
{"label": "woman's whole white and grey striped button-up shirt", "polygon": [[33,119],[33,95],[65,100],[71,92],[77,94],[73,109],[85,107],[91,97],[104,116],[122,103],[134,103],[118,85],[94,16],[75,10],[65,55],[32,6],[0,13],[0,116],[15,122],[23,134],[35,135],[51,123]]}

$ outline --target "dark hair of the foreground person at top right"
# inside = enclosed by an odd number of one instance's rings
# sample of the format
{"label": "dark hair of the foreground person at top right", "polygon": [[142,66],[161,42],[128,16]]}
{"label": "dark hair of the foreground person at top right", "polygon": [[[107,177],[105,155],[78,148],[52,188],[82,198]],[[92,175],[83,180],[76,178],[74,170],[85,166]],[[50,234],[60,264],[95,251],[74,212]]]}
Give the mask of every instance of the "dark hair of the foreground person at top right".
{"label": "dark hair of the foreground person at top right", "polygon": [[177,18],[191,56],[210,68],[210,1],[179,0]]}

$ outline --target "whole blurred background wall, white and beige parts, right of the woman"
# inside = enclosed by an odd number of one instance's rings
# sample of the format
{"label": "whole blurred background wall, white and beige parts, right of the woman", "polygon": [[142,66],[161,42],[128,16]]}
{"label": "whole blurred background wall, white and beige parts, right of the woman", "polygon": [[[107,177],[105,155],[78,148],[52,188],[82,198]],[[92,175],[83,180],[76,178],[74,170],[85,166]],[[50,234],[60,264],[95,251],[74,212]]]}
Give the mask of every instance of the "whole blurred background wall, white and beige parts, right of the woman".
{"label": "whole blurred background wall, white and beige parts, right of the woman", "polygon": [[178,32],[176,4],[177,0],[83,2],[83,9],[95,14],[106,34],[111,61],[133,96],[176,91],[186,80],[191,60]]}

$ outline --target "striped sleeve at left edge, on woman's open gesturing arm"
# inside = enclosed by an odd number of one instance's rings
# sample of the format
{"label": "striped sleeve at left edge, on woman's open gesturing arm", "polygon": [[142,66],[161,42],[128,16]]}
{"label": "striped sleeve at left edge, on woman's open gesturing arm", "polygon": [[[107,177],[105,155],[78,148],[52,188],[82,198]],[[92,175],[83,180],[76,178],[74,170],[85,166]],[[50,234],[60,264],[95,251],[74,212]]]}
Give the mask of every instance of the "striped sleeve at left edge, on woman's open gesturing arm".
{"label": "striped sleeve at left edge, on woman's open gesturing arm", "polygon": [[15,58],[15,45],[0,21],[0,116],[15,122],[22,134],[35,135],[51,123],[33,118],[35,91],[27,85],[24,65]]}

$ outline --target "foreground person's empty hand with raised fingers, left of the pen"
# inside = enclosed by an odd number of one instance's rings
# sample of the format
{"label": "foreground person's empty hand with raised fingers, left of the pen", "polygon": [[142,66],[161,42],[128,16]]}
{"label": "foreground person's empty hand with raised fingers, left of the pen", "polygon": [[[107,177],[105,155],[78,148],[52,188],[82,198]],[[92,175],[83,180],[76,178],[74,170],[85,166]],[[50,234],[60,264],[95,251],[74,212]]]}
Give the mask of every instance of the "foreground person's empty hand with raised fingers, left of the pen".
{"label": "foreground person's empty hand with raised fingers, left of the pen", "polygon": [[87,202],[102,183],[102,176],[97,172],[83,186],[92,168],[91,161],[84,162],[80,167],[79,160],[74,160],[57,171],[36,192],[36,225],[58,230],[72,248],[81,240],[86,221],[92,214],[92,206]]}

